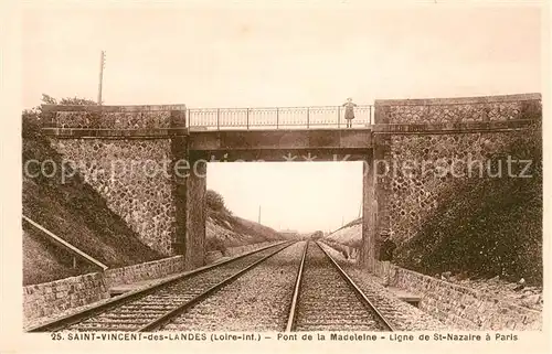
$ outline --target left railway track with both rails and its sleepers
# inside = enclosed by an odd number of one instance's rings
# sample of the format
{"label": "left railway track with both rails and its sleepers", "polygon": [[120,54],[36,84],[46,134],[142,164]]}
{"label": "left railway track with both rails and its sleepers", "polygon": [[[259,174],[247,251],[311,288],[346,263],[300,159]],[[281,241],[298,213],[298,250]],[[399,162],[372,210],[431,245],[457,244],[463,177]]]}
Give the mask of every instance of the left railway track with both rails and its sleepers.
{"label": "left railway track with both rails and its sleepers", "polygon": [[162,283],[114,298],[112,301],[28,332],[155,331],[159,326],[235,280],[268,257],[287,248],[283,243],[203,267]]}

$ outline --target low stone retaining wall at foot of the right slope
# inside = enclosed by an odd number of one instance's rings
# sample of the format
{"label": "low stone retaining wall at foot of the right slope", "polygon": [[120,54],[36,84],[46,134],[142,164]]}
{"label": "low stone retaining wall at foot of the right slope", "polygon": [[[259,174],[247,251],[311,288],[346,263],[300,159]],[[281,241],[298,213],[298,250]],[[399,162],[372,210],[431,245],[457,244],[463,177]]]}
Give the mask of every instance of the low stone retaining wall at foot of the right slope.
{"label": "low stone retaining wall at foot of the right slope", "polygon": [[542,313],[416,271],[376,262],[374,272],[390,286],[422,297],[420,308],[445,324],[471,330],[542,330]]}

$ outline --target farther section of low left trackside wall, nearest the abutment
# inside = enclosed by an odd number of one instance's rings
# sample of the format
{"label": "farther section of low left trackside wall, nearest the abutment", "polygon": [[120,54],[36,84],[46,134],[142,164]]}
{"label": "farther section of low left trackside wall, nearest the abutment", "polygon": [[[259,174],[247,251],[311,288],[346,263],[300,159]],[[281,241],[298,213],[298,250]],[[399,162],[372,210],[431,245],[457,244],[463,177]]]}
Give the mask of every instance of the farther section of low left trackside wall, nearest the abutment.
{"label": "farther section of low left trackside wall, nearest the abutment", "polygon": [[184,270],[184,257],[174,256],[139,265],[107,269],[104,273],[107,288],[141,280],[163,278]]}

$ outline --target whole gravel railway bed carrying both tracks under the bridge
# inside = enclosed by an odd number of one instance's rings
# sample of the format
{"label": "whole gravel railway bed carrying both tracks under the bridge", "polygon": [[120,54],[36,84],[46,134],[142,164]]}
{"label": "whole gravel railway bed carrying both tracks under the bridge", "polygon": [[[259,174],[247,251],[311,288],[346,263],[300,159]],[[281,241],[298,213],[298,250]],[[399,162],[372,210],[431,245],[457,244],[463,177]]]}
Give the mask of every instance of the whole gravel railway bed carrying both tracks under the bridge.
{"label": "whole gravel railway bed carrying both tracks under the bridge", "polygon": [[[282,242],[35,323],[28,332],[444,330],[328,246]],[[88,277],[96,281],[94,277]],[[417,324],[417,326],[416,326]],[[296,334],[286,334],[296,340]]]}

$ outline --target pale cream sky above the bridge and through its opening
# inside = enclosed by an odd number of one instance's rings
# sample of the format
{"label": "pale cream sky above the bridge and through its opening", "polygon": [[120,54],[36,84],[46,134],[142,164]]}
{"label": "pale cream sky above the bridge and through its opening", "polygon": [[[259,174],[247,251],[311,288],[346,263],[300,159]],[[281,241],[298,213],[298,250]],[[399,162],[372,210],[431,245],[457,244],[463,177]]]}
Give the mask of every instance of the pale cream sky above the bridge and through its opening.
{"label": "pale cream sky above the bridge and through its opening", "polygon": [[[537,7],[29,8],[23,107],[41,95],[105,105],[337,105],[541,92]],[[211,163],[242,217],[333,229],[358,216],[357,163]]]}

